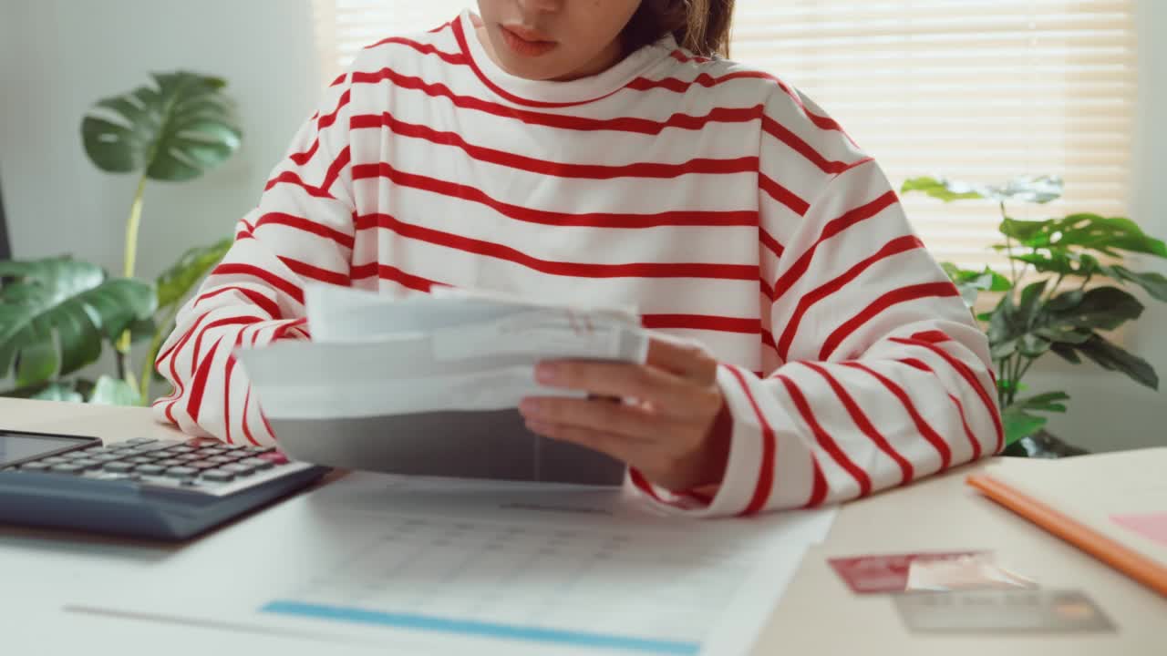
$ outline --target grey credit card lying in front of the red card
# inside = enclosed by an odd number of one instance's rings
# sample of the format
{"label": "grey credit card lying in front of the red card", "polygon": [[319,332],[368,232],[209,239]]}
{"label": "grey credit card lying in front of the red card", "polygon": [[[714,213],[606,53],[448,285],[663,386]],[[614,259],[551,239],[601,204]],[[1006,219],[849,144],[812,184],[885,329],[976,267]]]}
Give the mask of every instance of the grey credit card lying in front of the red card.
{"label": "grey credit card lying in front of the red card", "polygon": [[1114,624],[1081,591],[981,589],[914,592],[894,596],[917,633],[1097,633]]}

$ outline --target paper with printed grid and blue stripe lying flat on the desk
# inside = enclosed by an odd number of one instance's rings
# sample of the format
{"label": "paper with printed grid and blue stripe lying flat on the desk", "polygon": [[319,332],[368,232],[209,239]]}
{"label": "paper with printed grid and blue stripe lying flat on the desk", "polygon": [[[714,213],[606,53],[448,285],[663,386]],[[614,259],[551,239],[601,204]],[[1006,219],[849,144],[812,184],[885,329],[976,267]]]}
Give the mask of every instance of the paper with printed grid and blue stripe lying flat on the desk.
{"label": "paper with printed grid and blue stripe lying flat on the desk", "polygon": [[679,519],[629,490],[355,474],[74,609],[392,654],[742,654],[834,512]]}

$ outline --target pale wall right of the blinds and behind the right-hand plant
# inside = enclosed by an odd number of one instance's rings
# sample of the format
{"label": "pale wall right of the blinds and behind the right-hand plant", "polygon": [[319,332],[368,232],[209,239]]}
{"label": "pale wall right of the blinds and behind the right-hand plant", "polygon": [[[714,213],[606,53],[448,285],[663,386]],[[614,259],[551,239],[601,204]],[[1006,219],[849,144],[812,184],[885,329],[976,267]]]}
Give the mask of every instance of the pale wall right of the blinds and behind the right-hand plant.
{"label": "pale wall right of the blinds and behind the right-hand plant", "polygon": [[[1167,2],[1139,2],[1139,107],[1133,159],[1131,216],[1149,233],[1167,239]],[[1162,261],[1141,261],[1167,274]],[[1070,412],[1050,430],[1092,451],[1167,445],[1167,306],[1146,299],[1146,313],[1127,332],[1126,348],[1147,358],[1162,384],[1159,392],[1093,365],[1070,367],[1049,356],[1034,367],[1034,392],[1067,390]]]}

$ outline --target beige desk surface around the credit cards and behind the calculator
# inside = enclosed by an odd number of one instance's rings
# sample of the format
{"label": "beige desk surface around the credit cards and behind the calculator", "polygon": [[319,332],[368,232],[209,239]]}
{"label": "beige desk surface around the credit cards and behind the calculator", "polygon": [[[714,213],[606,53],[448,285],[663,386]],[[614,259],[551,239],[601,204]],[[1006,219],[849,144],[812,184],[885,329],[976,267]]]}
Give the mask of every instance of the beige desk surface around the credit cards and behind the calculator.
{"label": "beige desk surface around the credit cards and behind the calculator", "polygon": [[[0,423],[6,428],[97,435],[106,441],[176,434],[155,424],[145,409],[2,398]],[[1054,463],[1007,460],[999,465],[1021,470]],[[964,484],[965,475],[979,467],[984,463],[845,505],[826,542],[806,554],[755,652],[1165,654],[1167,599],[980,497]],[[2,528],[0,537],[16,532],[30,531]],[[107,549],[111,540],[99,542]],[[834,556],[970,549],[995,551],[1007,566],[1043,587],[1084,589],[1119,631],[1088,636],[914,636],[903,628],[887,598],[853,595],[826,565],[826,558]],[[134,624],[125,624],[127,635],[137,631]]]}

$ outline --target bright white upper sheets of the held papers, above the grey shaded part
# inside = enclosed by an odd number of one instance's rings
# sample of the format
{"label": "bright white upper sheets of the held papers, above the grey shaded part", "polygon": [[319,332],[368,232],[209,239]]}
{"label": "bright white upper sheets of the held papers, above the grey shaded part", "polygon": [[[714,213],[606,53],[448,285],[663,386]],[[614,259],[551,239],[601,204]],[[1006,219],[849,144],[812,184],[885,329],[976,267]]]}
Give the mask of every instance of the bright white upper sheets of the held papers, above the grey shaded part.
{"label": "bright white upper sheets of the held papers, above the grey shaded part", "polygon": [[579,396],[537,384],[539,361],[648,355],[628,308],[460,291],[394,300],[328,285],[309,286],[306,307],[310,342],[238,351],[270,419],[513,409],[527,396]]}

